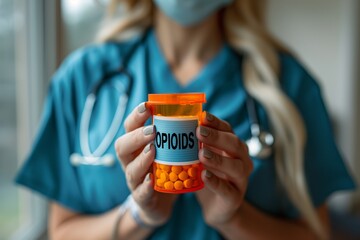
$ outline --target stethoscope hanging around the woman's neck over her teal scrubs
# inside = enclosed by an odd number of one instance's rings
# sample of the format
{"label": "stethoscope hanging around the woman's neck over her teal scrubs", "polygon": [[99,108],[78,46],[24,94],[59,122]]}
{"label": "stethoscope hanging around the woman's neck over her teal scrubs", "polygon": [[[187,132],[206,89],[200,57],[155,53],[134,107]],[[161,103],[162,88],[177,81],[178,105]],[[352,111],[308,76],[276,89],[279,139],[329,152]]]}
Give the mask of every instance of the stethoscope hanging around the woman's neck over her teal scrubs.
{"label": "stethoscope hanging around the woman's neck over her teal scrubs", "polygon": [[[100,81],[95,84],[89,95],[86,97],[84,109],[80,117],[79,130],[80,149],[82,155],[79,153],[73,153],[70,156],[70,162],[72,165],[93,165],[107,167],[114,165],[116,161],[115,156],[112,154],[105,154],[105,152],[111,146],[111,143],[116,137],[116,133],[121,126],[121,123],[124,121],[129,95],[132,90],[133,77],[127,70],[127,64],[137,47],[145,42],[145,38],[148,35],[147,32],[148,31],[146,31],[140,40],[135,43],[128,51],[120,67],[115,71],[111,71],[105,74],[104,77],[102,77]],[[129,84],[126,87],[124,84],[119,83],[119,85],[116,87],[120,92],[120,97],[114,119],[112,120],[110,127],[99,146],[93,152],[91,152],[89,147],[89,125],[96,98],[99,89],[104,85],[104,83],[116,75],[125,76],[128,79]],[[248,146],[249,155],[253,158],[266,159],[272,154],[274,137],[270,132],[261,129],[256,112],[255,101],[249,94],[246,94],[246,108],[249,114],[251,132],[251,137],[245,141]]]}

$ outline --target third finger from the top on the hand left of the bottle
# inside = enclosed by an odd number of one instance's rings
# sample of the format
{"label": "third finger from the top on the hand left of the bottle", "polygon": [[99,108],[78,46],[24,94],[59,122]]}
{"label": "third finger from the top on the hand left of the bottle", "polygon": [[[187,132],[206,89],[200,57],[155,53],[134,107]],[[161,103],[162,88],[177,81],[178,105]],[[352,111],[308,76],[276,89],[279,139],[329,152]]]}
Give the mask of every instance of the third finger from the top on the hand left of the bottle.
{"label": "third finger from the top on the hand left of the bottle", "polygon": [[126,181],[131,190],[134,190],[142,181],[144,176],[149,172],[149,168],[154,161],[155,148],[153,143],[146,145],[144,150],[134,161],[126,167]]}

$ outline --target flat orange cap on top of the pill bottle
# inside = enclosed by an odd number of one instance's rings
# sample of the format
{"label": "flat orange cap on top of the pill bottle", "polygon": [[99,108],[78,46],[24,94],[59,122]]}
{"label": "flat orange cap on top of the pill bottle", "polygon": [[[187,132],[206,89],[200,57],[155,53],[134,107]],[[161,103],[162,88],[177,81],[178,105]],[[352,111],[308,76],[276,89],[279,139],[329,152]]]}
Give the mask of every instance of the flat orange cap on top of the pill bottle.
{"label": "flat orange cap on top of the pill bottle", "polygon": [[149,94],[150,104],[194,104],[205,103],[205,93]]}

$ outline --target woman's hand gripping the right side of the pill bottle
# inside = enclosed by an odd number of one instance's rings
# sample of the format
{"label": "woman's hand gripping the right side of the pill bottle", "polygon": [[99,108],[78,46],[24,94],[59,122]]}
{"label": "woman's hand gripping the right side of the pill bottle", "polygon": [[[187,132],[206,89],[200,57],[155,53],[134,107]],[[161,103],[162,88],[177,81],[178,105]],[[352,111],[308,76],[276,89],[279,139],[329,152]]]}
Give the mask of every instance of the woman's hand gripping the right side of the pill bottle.
{"label": "woman's hand gripping the right side of the pill bottle", "polygon": [[229,123],[208,112],[202,115],[196,135],[204,146],[199,151],[205,188],[196,193],[207,224],[218,227],[229,222],[240,209],[248,177],[253,169],[248,150]]}

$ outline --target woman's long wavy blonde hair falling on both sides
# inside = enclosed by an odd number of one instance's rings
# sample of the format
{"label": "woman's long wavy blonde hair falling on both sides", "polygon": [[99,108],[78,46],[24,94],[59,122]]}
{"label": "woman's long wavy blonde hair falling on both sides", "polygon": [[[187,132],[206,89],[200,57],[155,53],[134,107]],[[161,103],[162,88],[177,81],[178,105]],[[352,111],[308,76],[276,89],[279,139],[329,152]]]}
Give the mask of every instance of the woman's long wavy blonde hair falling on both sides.
{"label": "woman's long wavy blonde hair falling on both sides", "polygon": [[[326,239],[304,176],[304,122],[279,84],[277,52],[286,49],[268,33],[264,9],[265,0],[233,1],[223,12],[225,38],[235,50],[245,53],[244,85],[269,115],[276,139],[275,167],[280,183],[311,229],[319,238]],[[132,37],[151,26],[153,13],[154,6],[149,0],[112,0],[98,40]]]}

